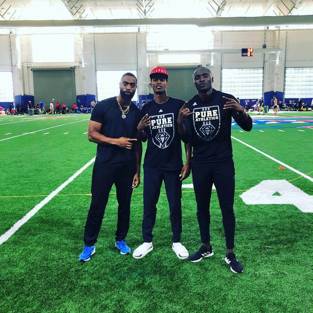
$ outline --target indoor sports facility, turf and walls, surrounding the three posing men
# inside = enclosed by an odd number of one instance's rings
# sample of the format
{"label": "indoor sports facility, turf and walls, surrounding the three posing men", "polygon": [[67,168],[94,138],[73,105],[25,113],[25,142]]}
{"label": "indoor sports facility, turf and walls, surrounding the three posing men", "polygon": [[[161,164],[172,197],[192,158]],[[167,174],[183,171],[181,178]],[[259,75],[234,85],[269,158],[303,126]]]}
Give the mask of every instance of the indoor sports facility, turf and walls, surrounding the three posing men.
{"label": "indoor sports facility, turf and walls, surrounding the three posing men", "polygon": [[[195,69],[207,67],[213,88],[253,120],[249,132],[231,128],[240,275],[223,261],[214,186],[212,258],[173,253],[164,185],[153,251],[140,260],[118,253],[113,186],[97,253],[78,261],[97,148],[87,138],[91,102],[117,96],[130,72],[141,109],[154,98],[158,66],[167,95],[184,101],[197,94]],[[0,312],[312,312],[312,109],[311,0],[0,0]],[[182,151],[185,162],[183,143]],[[143,180],[141,171],[132,250],[142,241]],[[201,245],[196,212],[190,174],[182,182],[190,251]]]}

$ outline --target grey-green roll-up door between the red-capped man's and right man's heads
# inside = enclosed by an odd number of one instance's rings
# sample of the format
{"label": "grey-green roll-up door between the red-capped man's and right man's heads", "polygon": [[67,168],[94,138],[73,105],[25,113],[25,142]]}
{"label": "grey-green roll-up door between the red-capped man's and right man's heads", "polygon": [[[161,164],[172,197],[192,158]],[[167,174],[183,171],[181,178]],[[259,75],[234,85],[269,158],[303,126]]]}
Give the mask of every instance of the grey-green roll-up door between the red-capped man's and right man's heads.
{"label": "grey-green roll-up door between the red-capped man's and right man's heads", "polygon": [[168,69],[167,95],[188,101],[197,94],[192,80],[194,70],[195,69]]}

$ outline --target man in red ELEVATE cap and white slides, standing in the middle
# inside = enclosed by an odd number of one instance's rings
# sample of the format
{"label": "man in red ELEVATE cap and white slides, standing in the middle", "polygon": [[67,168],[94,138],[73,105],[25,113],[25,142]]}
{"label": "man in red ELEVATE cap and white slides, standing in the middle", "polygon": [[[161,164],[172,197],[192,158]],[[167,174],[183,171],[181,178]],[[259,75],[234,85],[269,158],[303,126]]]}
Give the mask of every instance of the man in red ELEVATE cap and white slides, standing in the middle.
{"label": "man in red ELEVATE cap and white slides, standing in the middle", "polygon": [[[147,149],[143,164],[143,221],[141,244],[133,253],[133,257],[141,259],[152,251],[152,230],[156,221],[156,204],[164,180],[167,200],[170,208],[172,228],[172,249],[179,259],[187,259],[188,251],[180,243],[182,233],[182,180],[185,179],[182,164],[181,140],[188,142],[183,122],[189,110],[185,101],[169,97],[167,70],[157,67],[151,71],[150,86],[154,100],[141,109],[141,119],[137,126],[138,136],[147,141]],[[180,136],[184,132],[185,136]]]}

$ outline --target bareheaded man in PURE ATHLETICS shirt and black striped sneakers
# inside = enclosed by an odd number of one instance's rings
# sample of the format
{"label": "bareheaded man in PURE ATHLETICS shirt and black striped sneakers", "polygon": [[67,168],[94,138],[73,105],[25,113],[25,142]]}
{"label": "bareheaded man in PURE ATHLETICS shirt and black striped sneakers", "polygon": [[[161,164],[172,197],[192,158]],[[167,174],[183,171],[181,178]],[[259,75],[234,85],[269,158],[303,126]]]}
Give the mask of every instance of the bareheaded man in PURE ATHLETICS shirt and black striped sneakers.
{"label": "bareheaded man in PURE ATHLETICS shirt and black striped sneakers", "polygon": [[[213,255],[210,243],[210,198],[212,185],[217,191],[222,211],[226,237],[225,261],[234,273],[243,271],[242,264],[233,252],[235,215],[233,211],[235,193],[235,168],[231,144],[231,121],[245,131],[252,129],[252,119],[233,95],[212,88],[212,73],[199,67],[193,73],[193,83],[198,94],[188,101],[193,115],[186,120],[186,132],[191,132],[191,144],[187,144],[187,163],[192,163],[192,181],[197,202],[197,217],[200,228],[200,249],[189,256],[192,262]],[[191,146],[193,149],[192,160]]]}

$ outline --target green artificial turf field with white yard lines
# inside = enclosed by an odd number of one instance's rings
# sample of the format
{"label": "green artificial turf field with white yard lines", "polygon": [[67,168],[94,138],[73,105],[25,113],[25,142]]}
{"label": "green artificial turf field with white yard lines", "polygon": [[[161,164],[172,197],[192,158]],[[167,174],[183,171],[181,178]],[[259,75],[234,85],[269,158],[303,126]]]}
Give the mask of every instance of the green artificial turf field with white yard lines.
{"label": "green artificial turf field with white yard lines", "polygon": [[[96,151],[86,135],[90,115],[0,115],[0,312],[312,312],[313,113],[250,115],[251,132],[232,129],[242,274],[223,260],[215,190],[214,256],[177,258],[164,186],[151,253],[138,260],[115,248],[113,188],[96,253],[80,263]],[[132,251],[142,243],[142,186],[132,196]],[[201,243],[187,187],[182,244],[192,253]]]}

